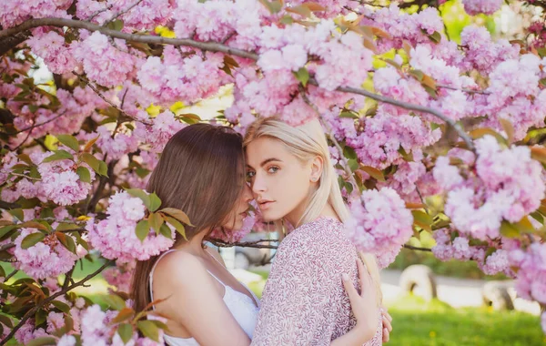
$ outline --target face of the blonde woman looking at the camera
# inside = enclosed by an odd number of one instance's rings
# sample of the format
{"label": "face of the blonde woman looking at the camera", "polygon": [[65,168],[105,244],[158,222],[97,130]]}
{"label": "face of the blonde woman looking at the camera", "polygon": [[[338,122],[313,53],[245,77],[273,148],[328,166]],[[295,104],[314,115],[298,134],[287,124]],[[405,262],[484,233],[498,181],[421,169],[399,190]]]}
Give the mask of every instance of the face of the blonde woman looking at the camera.
{"label": "face of the blonde woman looking at the camera", "polygon": [[247,177],[264,220],[296,225],[307,206],[313,169],[278,139],[258,137],[246,149]]}

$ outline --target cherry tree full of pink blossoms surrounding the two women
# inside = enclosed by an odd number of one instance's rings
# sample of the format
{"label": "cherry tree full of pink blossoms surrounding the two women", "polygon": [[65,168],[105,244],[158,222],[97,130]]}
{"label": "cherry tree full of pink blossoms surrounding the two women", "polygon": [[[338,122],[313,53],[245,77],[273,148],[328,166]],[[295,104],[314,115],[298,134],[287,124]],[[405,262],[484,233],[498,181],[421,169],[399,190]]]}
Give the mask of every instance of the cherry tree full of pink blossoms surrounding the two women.
{"label": "cherry tree full of pink blossoms surrounding the two women", "polygon": [[[0,270],[2,343],[162,343],[165,319],[133,310],[128,281],[191,220],[143,190],[149,173],[179,129],[244,133],[256,117],[319,118],[349,237],[382,267],[402,247],[475,260],[546,306],[543,15],[519,40],[469,25],[456,42],[443,3],[0,3],[0,257],[15,268]],[[462,5],[490,15],[502,2]],[[222,88],[234,100],[217,117],[187,111]],[[255,213],[211,241],[241,245],[266,226]],[[424,233],[432,249],[408,244]],[[91,250],[105,264],[75,281]],[[28,278],[10,280],[17,270]],[[116,287],[106,311],[72,291],[101,272]]]}

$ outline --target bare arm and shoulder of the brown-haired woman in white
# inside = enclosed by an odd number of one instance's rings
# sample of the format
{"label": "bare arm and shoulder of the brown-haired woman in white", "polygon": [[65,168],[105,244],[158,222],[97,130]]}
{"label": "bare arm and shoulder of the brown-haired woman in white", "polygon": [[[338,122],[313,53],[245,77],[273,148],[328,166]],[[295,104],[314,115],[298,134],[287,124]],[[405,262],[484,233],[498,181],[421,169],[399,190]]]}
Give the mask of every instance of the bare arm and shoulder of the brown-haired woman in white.
{"label": "bare arm and shoulder of the brown-haired woman in white", "polygon": [[184,326],[200,345],[248,345],[250,340],[216,290],[217,282],[193,256],[176,251],[154,273],[154,299],[165,299],[172,321]]}

